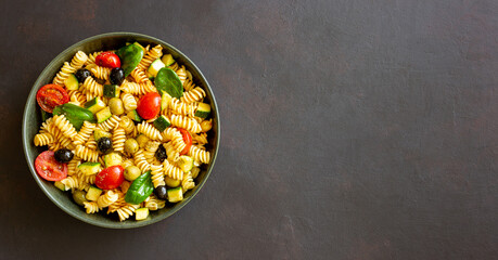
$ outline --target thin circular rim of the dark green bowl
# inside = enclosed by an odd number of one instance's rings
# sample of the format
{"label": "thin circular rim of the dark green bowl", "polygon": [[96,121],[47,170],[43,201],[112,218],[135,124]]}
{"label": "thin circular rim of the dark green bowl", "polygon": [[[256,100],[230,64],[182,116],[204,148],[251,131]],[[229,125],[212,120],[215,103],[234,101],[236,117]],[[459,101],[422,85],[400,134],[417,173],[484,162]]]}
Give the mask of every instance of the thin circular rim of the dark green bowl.
{"label": "thin circular rim of the dark green bowl", "polygon": [[[41,81],[46,80],[46,78],[41,78],[41,76],[43,74],[46,74],[49,68],[51,68],[52,66],[55,65],[56,61],[60,60],[62,56],[64,55],[67,55],[68,53],[72,53],[75,51],[75,49],[81,44],[88,44],[94,40],[99,40],[101,38],[108,38],[108,37],[130,37],[130,38],[145,38],[148,40],[151,40],[151,41],[155,41],[155,42],[158,42],[161,43],[162,46],[164,47],[167,47],[174,51],[176,51],[180,56],[182,56],[182,58],[187,60],[191,65],[192,67],[197,70],[199,75],[201,76],[202,80],[206,83],[206,89],[207,91],[209,92],[210,94],[210,99],[212,99],[212,105],[214,106],[214,109],[213,112],[215,113],[215,117],[216,117],[216,127],[217,127],[217,134],[216,134],[216,141],[215,141],[215,146],[214,146],[214,153],[212,155],[212,161],[209,162],[209,166],[207,168],[207,172],[206,172],[206,176],[204,177],[204,179],[196,185],[197,187],[195,188],[195,191],[192,191],[193,193],[184,200],[182,200],[180,203],[180,205],[174,207],[173,209],[166,211],[164,214],[157,217],[157,218],[154,218],[154,219],[149,219],[149,220],[143,220],[143,221],[135,221],[132,222],[131,224],[127,224],[127,225],[119,225],[120,222],[111,222],[111,223],[107,223],[107,222],[102,222],[102,221],[95,221],[95,220],[91,220],[91,219],[88,219],[88,218],[85,218],[80,214],[77,214],[75,212],[73,212],[72,210],[69,210],[69,208],[65,207],[63,204],[61,204],[55,197],[53,197],[50,192],[43,186],[43,183],[42,181],[40,180],[40,178],[38,177],[38,174],[36,173],[36,170],[35,170],[35,167],[34,167],[34,161],[35,161],[35,158],[33,158],[33,161],[31,159],[29,158],[29,155],[28,155],[28,136],[27,136],[27,110],[28,110],[28,102],[29,100],[34,99],[35,95],[36,95],[36,92],[38,91],[38,86],[41,83]],[[156,223],[156,222],[159,222],[159,221],[163,221],[165,220],[166,218],[173,216],[174,213],[178,212],[181,208],[183,208],[193,197],[195,197],[195,195],[201,191],[201,188],[204,186],[204,184],[206,183],[207,179],[209,178],[210,176],[210,172],[215,166],[215,162],[216,162],[216,158],[218,156],[218,150],[219,150],[219,141],[220,141],[220,136],[221,136],[221,132],[220,132],[220,123],[219,123],[219,113],[218,113],[218,105],[216,103],[216,99],[215,99],[215,95],[213,93],[213,90],[209,86],[209,82],[207,81],[206,77],[202,74],[201,69],[199,69],[199,67],[195,65],[195,63],[192,62],[192,60],[190,60],[184,53],[182,53],[181,51],[179,51],[177,48],[175,48],[174,46],[167,43],[166,41],[164,40],[161,40],[161,39],[157,39],[155,37],[152,37],[152,36],[148,36],[148,35],[143,35],[143,34],[138,34],[138,32],[127,32],[127,31],[114,31],[114,32],[106,32],[106,34],[100,34],[100,35],[95,35],[95,36],[91,36],[91,37],[88,37],[86,39],[82,39],[74,44],[72,44],[71,47],[66,48],[64,51],[62,51],[59,55],[56,55],[44,68],[43,70],[39,74],[39,76],[37,77],[37,79],[35,80],[35,83],[33,84],[30,91],[29,91],[29,94],[27,96],[27,100],[26,100],[26,104],[24,106],[24,113],[23,113],[23,126],[22,126],[22,139],[23,139],[23,151],[24,151],[24,156],[26,158],[26,161],[27,161],[27,165],[28,165],[28,168],[31,172],[31,176],[33,178],[35,179],[36,183],[38,184],[38,186],[41,188],[41,191],[43,191],[44,195],[47,195],[47,197],[49,197],[50,200],[52,200],[53,204],[55,204],[59,208],[61,208],[64,212],[73,216],[74,218],[82,221],[82,222],[86,222],[86,223],[89,223],[89,224],[92,224],[92,225],[97,225],[97,226],[101,226],[101,227],[106,227],[106,229],[135,229],[135,227],[141,227],[141,226],[145,226],[145,225],[150,225],[150,224],[153,224],[153,223]],[[29,136],[29,142],[30,142],[31,138]]]}

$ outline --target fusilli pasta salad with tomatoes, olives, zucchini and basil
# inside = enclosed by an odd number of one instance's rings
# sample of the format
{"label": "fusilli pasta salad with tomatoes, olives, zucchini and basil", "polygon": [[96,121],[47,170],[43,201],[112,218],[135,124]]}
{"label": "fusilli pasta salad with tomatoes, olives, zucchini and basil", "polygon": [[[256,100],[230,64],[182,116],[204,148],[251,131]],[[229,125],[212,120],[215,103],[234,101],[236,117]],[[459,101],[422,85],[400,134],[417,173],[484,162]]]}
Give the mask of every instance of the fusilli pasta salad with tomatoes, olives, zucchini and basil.
{"label": "fusilli pasta salad with tomatoes, olives, zucchini and basil", "polygon": [[37,92],[37,173],[87,213],[146,219],[183,199],[208,164],[206,92],[162,46],[78,51]]}

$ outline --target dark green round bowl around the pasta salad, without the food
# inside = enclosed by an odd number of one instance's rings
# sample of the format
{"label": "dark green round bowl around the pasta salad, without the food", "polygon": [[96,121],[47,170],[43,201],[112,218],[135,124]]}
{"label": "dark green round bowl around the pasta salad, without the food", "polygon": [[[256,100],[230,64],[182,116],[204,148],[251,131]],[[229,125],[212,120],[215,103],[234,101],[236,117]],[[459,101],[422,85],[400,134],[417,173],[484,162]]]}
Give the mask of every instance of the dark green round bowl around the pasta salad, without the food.
{"label": "dark green round bowl around the pasta salad, without the food", "polygon": [[[76,205],[72,197],[71,193],[62,192],[53,185],[53,182],[48,182],[38,177],[36,173],[34,161],[38,154],[42,152],[42,148],[36,147],[33,144],[33,139],[35,134],[37,134],[39,127],[41,125],[41,116],[40,116],[40,108],[36,102],[36,92],[40,87],[47,84],[52,81],[55,74],[62,67],[64,62],[71,61],[73,55],[77,51],[84,51],[86,53],[92,53],[95,51],[102,50],[116,50],[126,42],[135,42],[138,41],[140,43],[146,44],[162,44],[164,47],[164,51],[166,53],[170,53],[176,61],[180,64],[183,64],[191,73],[194,78],[194,82],[197,86],[201,86],[204,90],[206,90],[207,98],[206,102],[212,105],[212,117],[213,117],[213,130],[209,132],[208,141],[209,146],[206,148],[212,154],[212,161],[209,165],[203,165],[203,168],[199,177],[195,179],[197,185],[189,191],[184,195],[184,199],[181,203],[175,204],[174,206],[167,206],[162,210],[151,211],[149,218],[142,221],[136,221],[133,218],[130,218],[127,221],[119,222],[117,216],[115,214],[105,214],[105,213],[94,213],[94,214],[87,214],[85,212],[85,208]],[[38,183],[40,188],[43,191],[44,194],[62,210],[67,212],[68,214],[90,224],[94,224],[98,226],[110,227],[110,229],[131,229],[131,227],[139,227],[144,226],[148,224],[155,223],[157,221],[164,220],[167,217],[174,214],[178,210],[180,210],[183,206],[186,206],[201,187],[206,182],[207,178],[209,177],[210,171],[213,170],[216,156],[218,154],[218,146],[219,146],[219,117],[218,117],[218,107],[216,105],[215,95],[213,94],[213,90],[210,89],[207,80],[202,75],[201,70],[195,66],[195,64],[190,61],[183,53],[178,51],[173,46],[162,41],[159,39],[133,34],[133,32],[111,32],[104,35],[98,35],[85,39],[63,51],[59,54],[40,74],[38,79],[36,80],[35,84],[29,92],[26,101],[26,107],[24,109],[23,116],[23,145],[24,145],[24,153],[26,155],[26,160],[29,166],[29,170],[31,171],[35,181]]]}

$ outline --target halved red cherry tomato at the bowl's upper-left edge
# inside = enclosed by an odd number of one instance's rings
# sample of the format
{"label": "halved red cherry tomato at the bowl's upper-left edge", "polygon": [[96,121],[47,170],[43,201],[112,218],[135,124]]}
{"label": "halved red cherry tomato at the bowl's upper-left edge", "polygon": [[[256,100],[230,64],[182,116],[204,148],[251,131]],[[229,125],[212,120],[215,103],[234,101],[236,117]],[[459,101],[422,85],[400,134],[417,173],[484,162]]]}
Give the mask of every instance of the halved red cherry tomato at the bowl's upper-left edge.
{"label": "halved red cherry tomato at the bowl's upper-left edge", "polygon": [[69,95],[59,84],[46,84],[36,93],[36,101],[41,109],[52,113],[55,106],[69,102]]}

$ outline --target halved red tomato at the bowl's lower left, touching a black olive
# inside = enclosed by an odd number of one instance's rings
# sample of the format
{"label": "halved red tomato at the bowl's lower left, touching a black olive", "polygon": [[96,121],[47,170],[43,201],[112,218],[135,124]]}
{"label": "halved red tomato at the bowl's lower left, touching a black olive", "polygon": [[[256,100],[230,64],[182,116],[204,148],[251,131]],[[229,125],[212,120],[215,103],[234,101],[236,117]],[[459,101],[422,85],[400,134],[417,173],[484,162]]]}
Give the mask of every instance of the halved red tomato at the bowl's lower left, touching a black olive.
{"label": "halved red tomato at the bowl's lower left, touching a black olive", "polygon": [[54,154],[53,151],[46,151],[35,160],[36,172],[47,181],[60,181],[67,177],[67,164],[56,161]]}

